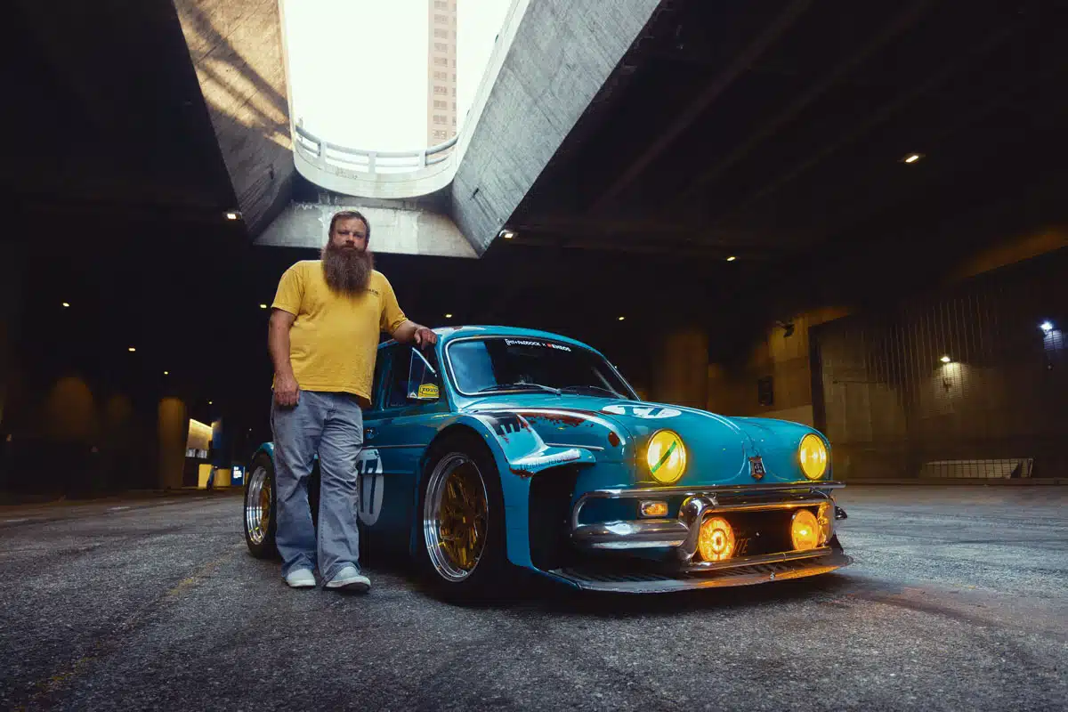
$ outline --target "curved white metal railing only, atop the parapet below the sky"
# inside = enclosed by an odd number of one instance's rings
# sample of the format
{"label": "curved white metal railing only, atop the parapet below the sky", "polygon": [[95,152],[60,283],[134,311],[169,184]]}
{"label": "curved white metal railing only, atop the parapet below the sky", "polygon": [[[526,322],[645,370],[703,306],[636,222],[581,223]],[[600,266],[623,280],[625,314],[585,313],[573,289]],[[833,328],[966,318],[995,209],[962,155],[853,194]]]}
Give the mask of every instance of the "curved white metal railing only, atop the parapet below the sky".
{"label": "curved white metal railing only, atop the parapet below the sky", "polygon": [[305,160],[334,175],[368,178],[376,175],[418,173],[443,163],[452,155],[458,136],[421,151],[364,151],[330,143],[301,126],[295,128],[294,147]]}

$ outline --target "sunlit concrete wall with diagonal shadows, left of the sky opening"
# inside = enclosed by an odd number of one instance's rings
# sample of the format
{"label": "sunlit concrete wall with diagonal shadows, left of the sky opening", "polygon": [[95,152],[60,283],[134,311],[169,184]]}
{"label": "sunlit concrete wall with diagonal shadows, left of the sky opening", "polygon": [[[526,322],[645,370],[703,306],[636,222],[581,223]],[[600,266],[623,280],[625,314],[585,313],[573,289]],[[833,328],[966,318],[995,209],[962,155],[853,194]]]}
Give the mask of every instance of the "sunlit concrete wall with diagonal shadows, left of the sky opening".
{"label": "sunlit concrete wall with diagonal shadows, left of the sky opening", "polygon": [[278,0],[174,0],[251,234],[288,203],[294,174]]}

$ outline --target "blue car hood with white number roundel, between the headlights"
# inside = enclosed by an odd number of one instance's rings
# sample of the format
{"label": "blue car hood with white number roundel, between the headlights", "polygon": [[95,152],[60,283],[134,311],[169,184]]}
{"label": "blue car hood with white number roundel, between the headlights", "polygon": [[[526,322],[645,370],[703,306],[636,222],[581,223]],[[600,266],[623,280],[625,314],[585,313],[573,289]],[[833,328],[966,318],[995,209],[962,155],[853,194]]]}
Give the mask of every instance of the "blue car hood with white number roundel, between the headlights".
{"label": "blue car hood with white number roundel, between the headlights", "polygon": [[766,470],[761,481],[804,480],[798,445],[805,434],[816,432],[787,421],[726,417],[681,406],[569,394],[498,396],[465,410],[516,412],[546,443],[592,446],[602,453],[599,459],[629,459],[639,480],[650,482],[643,461],[645,446],[658,430],[673,430],[687,448],[686,473],[676,482],[681,486],[753,484],[750,458],[756,456]]}

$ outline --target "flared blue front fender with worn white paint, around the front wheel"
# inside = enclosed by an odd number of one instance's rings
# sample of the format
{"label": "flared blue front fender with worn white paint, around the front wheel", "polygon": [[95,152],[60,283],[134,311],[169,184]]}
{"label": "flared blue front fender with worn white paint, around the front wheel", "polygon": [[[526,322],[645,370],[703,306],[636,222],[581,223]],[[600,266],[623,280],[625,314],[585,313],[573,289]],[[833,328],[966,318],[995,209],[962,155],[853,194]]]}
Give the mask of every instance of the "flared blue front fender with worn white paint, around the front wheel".
{"label": "flared blue front fender with worn white paint, around the front wheel", "polygon": [[[534,568],[530,550],[531,478],[563,465],[592,465],[597,462],[597,457],[584,447],[547,445],[527,418],[507,411],[458,414],[441,424],[439,437],[457,426],[482,437],[497,463],[504,496],[504,537],[508,560],[516,566]],[[418,497],[419,492],[417,503]],[[421,513],[414,519],[422,522]]]}

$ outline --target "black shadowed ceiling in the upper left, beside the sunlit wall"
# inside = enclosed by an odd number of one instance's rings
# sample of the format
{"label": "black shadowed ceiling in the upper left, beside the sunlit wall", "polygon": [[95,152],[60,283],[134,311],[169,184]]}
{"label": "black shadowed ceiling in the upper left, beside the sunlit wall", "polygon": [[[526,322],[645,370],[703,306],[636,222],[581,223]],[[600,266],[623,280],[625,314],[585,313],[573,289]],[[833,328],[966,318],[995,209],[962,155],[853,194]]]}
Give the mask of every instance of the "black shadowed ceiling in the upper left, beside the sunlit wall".
{"label": "black shadowed ceiling in the upper left, beside the sunlit wall", "polygon": [[171,2],[15,0],[4,26],[4,200],[200,224],[235,209]]}

